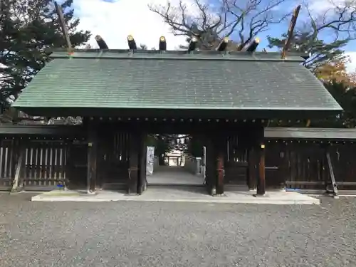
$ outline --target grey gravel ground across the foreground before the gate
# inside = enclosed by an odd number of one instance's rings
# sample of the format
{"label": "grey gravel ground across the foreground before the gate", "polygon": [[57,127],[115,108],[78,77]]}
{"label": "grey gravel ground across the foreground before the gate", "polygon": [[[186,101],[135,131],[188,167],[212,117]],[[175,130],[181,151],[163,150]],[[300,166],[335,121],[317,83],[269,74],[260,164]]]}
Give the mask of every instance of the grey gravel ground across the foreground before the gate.
{"label": "grey gravel ground across the foreground before the gate", "polygon": [[356,266],[356,198],[320,206],[0,194],[0,266]]}

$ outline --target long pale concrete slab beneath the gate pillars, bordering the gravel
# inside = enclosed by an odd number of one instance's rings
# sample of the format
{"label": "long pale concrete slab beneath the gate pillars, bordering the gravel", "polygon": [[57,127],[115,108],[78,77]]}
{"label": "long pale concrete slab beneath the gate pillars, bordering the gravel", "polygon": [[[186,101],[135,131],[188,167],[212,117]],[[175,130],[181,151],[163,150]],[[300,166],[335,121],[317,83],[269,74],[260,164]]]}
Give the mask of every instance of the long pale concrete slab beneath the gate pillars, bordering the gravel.
{"label": "long pale concrete slab beneath the gate pillars, bordering the gravel", "polygon": [[204,187],[148,187],[138,196],[123,192],[98,191],[86,194],[78,191],[53,190],[32,197],[32,201],[167,201],[204,202],[226,204],[320,204],[319,199],[297,192],[266,192],[263,197],[253,197],[256,192],[226,192],[224,197],[211,197]]}

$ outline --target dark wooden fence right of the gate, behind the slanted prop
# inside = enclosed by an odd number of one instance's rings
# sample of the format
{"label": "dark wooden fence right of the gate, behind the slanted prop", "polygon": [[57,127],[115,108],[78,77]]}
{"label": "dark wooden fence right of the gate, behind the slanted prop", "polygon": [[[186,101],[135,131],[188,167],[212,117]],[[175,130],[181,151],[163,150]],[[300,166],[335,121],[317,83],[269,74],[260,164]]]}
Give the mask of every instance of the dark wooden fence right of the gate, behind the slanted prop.
{"label": "dark wooden fence right of the gate, behind the slanted prop", "polygon": [[[326,184],[330,183],[330,172],[325,159],[326,150],[325,142],[305,142],[305,140],[271,142],[266,146],[266,184],[271,185],[271,179],[276,179],[277,176],[278,181],[282,183],[284,181],[286,188],[289,189],[325,189]],[[356,145],[330,143],[328,151],[337,187],[347,190],[356,189]],[[279,174],[277,171],[268,174],[270,165],[278,165]]]}

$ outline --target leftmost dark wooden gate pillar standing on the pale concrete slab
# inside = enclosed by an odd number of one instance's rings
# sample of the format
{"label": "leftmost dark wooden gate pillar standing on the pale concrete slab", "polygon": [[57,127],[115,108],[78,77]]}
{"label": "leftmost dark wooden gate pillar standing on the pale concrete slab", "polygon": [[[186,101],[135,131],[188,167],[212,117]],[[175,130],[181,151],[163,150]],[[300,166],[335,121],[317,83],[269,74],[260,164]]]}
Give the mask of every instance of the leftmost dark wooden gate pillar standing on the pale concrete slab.
{"label": "leftmost dark wooden gate pillar standing on the pale concrete slab", "polygon": [[98,127],[93,122],[88,122],[88,172],[87,192],[94,193],[97,177],[98,157]]}

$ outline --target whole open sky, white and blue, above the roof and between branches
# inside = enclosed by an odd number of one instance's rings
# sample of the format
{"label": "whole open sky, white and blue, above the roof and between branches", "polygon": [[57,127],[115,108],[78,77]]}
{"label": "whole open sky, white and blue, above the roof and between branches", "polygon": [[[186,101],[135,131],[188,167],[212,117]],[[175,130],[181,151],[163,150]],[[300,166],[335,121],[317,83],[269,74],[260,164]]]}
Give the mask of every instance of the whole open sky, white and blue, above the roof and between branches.
{"label": "whole open sky, white and blue, above the roof and between branches", "polygon": [[[172,4],[178,4],[179,0],[170,0]],[[194,14],[192,0],[183,0],[189,6],[189,12]],[[205,0],[214,6],[218,0]],[[244,3],[246,0],[241,0]],[[276,0],[263,0],[262,4],[268,3],[267,1]],[[286,2],[278,6],[276,12],[293,11],[298,1],[302,0],[286,0]],[[304,0],[309,1],[310,9],[315,14],[325,11],[325,8],[330,3],[330,0]],[[340,2],[347,0],[338,0]],[[173,36],[169,27],[162,21],[157,14],[152,13],[147,7],[147,4],[166,4],[167,0],[74,0],[73,7],[75,16],[80,19],[80,28],[92,31],[93,37],[100,34],[107,41],[110,48],[126,48],[126,37],[132,34],[137,43],[145,43],[149,48],[157,46],[159,36],[166,36],[167,46],[169,49],[174,49],[179,44],[184,43],[183,36]],[[305,11],[300,13],[298,23],[303,23],[305,19]],[[261,44],[258,49],[267,46],[266,36],[281,36],[288,30],[289,21],[283,21],[279,24],[273,24],[268,31],[258,34],[261,39]],[[96,43],[94,38],[91,38],[90,44],[94,47]],[[234,36],[231,36],[234,38]],[[324,36],[328,38],[328,33]],[[356,42],[349,43],[345,50],[356,52]],[[271,50],[271,49],[269,49]],[[353,54],[352,54],[353,56]],[[352,67],[353,68],[353,67]],[[355,53],[355,68],[356,68],[356,53]]]}

